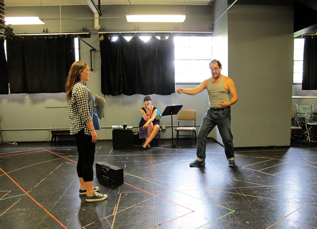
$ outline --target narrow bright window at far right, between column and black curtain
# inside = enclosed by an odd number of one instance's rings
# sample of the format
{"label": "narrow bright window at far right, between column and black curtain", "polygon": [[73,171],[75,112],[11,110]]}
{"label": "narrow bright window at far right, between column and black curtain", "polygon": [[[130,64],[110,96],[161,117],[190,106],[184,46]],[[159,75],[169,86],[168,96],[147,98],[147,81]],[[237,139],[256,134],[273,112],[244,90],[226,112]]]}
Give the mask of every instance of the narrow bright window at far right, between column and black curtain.
{"label": "narrow bright window at far right, between column and black curtain", "polygon": [[293,83],[302,83],[303,80],[304,41],[304,38],[294,39]]}

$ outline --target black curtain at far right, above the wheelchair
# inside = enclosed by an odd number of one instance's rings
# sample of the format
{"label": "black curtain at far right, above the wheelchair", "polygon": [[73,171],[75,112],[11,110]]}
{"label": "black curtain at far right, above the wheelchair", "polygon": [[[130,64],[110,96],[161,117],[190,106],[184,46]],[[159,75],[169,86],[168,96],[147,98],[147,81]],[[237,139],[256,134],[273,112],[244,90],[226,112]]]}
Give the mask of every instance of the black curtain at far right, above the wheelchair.
{"label": "black curtain at far right, above the wheelchair", "polygon": [[305,37],[302,90],[317,90],[317,38]]}

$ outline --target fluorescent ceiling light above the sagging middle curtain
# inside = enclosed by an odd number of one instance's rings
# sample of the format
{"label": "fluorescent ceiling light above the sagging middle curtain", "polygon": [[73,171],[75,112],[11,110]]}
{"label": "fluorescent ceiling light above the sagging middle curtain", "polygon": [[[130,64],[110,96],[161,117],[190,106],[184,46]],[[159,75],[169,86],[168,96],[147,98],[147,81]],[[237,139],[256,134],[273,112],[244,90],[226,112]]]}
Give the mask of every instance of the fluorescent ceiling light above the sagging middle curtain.
{"label": "fluorescent ceiling light above the sagging middle curtain", "polygon": [[128,22],[184,22],[186,15],[126,15]]}

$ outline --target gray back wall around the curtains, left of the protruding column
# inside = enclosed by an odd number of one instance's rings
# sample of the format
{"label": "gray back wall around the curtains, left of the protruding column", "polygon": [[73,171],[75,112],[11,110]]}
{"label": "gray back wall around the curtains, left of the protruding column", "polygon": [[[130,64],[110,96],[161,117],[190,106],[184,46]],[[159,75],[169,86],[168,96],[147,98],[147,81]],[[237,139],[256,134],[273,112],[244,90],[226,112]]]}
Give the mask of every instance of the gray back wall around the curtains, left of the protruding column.
{"label": "gray back wall around the curtains, left of the protruding column", "polygon": [[[39,7],[7,7],[7,16],[39,15]],[[177,11],[183,6],[133,6],[133,13],[138,9],[151,11],[149,8],[158,11]],[[174,26],[178,26],[183,31],[209,31],[212,22],[212,12],[210,6],[186,6],[185,23],[127,23],[125,18],[100,19],[100,25],[106,30],[124,31],[134,30],[139,26],[139,30],[159,30],[173,31]],[[106,5],[102,6],[103,17],[125,17],[126,6]],[[86,18],[94,17],[92,10],[88,6],[62,6],[62,18]],[[40,17],[59,18],[59,7],[42,7]],[[93,52],[94,71],[87,83],[93,95],[100,95],[100,49],[98,31],[94,29],[94,19],[64,19],[61,20],[62,32],[81,32],[83,27],[91,33],[90,38],[84,40],[92,45],[97,51]],[[49,33],[60,32],[60,20],[45,20],[44,25],[14,25],[12,26],[16,34],[21,33],[42,33],[43,28],[47,28]],[[90,65],[90,47],[81,42],[81,60]],[[36,72],[34,73],[36,77]],[[194,77],[194,76],[193,76]],[[206,76],[208,78],[208,76]],[[192,88],[197,85],[176,85],[176,87]],[[12,94],[0,95],[0,128],[4,141],[49,141],[50,136],[47,129],[68,128],[67,104],[61,94]],[[169,96],[151,95],[152,104],[157,106],[161,112],[167,105],[183,104],[184,108],[196,109],[197,124],[200,125],[202,116],[208,108],[206,92],[197,96],[178,95],[173,93]],[[106,111],[105,118],[100,120],[101,130],[97,132],[99,139],[112,139],[112,125],[120,125],[127,122],[128,126],[139,126],[140,108],[144,105],[144,95],[105,95]],[[60,107],[56,107],[60,106]],[[166,130],[162,131],[162,138],[171,138],[171,117],[161,118],[161,124],[166,125]],[[173,116],[173,125],[177,124],[177,116]],[[199,127],[198,127],[199,128]],[[174,133],[175,137],[175,133]],[[59,138],[69,139],[69,137]]]}

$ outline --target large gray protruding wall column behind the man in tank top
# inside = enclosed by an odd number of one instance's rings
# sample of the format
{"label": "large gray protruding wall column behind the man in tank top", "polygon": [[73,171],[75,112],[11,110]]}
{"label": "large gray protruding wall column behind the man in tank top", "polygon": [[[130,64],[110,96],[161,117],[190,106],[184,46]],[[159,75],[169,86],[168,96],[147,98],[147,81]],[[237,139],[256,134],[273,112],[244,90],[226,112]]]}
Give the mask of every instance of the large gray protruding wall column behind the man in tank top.
{"label": "large gray protruding wall column behind the man in tank top", "polygon": [[[214,7],[228,6],[216,1]],[[242,0],[222,17],[214,25],[213,57],[228,61],[237,89],[231,111],[234,146],[289,145],[293,3]]]}

